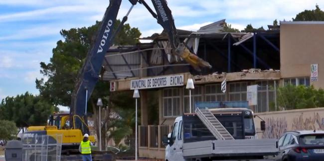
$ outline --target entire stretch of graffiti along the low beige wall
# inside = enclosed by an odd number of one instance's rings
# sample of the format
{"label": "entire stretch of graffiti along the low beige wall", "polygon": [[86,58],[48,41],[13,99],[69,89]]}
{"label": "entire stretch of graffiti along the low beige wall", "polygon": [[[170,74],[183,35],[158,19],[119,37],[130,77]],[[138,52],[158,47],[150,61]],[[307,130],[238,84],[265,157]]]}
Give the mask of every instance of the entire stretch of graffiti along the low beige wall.
{"label": "entire stretch of graffiti along the low beige wall", "polygon": [[[287,122],[286,117],[265,118],[266,130],[262,138],[278,139],[283,133],[289,130],[324,130],[324,118],[318,112],[307,117],[304,113],[294,117],[292,121]],[[287,125],[291,125],[288,128]]]}

